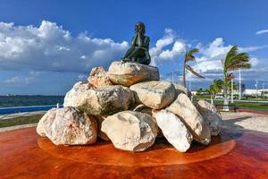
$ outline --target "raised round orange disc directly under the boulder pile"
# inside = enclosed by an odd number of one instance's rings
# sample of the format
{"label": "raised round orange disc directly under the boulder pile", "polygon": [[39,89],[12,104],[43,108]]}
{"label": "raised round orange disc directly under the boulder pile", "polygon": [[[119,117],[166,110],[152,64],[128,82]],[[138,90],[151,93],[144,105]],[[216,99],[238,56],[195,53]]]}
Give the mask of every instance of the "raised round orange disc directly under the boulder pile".
{"label": "raised round orange disc directly under the boulder pile", "polygon": [[174,149],[167,141],[156,140],[155,145],[142,152],[115,149],[113,143],[97,142],[88,146],[56,146],[47,138],[38,138],[38,146],[55,158],[105,166],[171,166],[218,158],[235,147],[235,141],[214,137],[209,146],[194,143],[186,153]]}

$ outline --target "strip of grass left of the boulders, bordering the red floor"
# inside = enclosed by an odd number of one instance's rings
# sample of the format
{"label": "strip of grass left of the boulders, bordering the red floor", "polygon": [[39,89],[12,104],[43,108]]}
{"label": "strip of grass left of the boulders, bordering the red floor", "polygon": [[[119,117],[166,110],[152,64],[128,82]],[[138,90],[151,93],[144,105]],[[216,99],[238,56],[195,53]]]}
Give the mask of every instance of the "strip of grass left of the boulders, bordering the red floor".
{"label": "strip of grass left of the boulders, bordering the red floor", "polygon": [[21,116],[13,119],[3,119],[0,120],[0,128],[10,127],[14,125],[22,124],[35,124],[41,119],[43,115],[31,115],[31,116]]}

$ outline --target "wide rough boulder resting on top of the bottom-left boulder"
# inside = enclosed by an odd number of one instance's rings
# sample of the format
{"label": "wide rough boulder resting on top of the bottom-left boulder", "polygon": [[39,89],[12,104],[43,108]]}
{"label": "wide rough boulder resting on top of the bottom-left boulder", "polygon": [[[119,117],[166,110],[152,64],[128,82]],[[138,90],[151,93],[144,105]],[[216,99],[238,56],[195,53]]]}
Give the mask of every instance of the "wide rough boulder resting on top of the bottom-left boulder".
{"label": "wide rough boulder resting on top of the bottom-left boulder", "polygon": [[63,107],[78,107],[88,115],[113,115],[127,110],[134,103],[132,91],[121,85],[93,89],[78,82],[67,92]]}

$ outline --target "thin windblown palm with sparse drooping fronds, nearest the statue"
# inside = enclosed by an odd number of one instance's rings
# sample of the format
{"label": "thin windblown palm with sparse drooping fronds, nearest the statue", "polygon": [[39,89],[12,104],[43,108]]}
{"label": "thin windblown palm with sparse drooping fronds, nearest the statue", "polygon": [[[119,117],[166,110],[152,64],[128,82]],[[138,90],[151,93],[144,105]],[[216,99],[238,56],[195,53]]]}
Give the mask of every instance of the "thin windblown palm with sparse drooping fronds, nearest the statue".
{"label": "thin windblown palm with sparse drooping fronds, nearest the statue", "polygon": [[186,51],[184,63],[183,63],[183,86],[184,88],[186,88],[186,76],[185,76],[186,70],[188,70],[189,72],[192,72],[199,78],[205,78],[204,76],[200,75],[198,72],[194,71],[194,69],[190,67],[188,64],[186,64],[188,61],[195,60],[196,57],[194,56],[194,54],[197,52],[199,52],[198,48],[193,48],[190,51]]}

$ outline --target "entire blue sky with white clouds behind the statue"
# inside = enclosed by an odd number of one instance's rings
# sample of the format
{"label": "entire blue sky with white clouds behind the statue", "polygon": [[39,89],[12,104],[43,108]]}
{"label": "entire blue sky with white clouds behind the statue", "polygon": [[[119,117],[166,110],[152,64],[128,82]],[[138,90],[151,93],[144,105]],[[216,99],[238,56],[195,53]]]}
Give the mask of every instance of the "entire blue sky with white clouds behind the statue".
{"label": "entire blue sky with white clouds behind the statue", "polygon": [[[247,2],[247,3],[246,3]],[[220,60],[232,45],[247,51],[253,68],[242,72],[268,88],[267,1],[17,1],[0,0],[0,94],[65,94],[105,68],[130,46],[136,21],[147,25],[152,65],[163,80],[181,82],[186,48],[200,53],[192,66],[206,78],[222,78]],[[189,75],[189,74],[188,74]]]}

